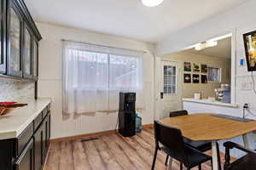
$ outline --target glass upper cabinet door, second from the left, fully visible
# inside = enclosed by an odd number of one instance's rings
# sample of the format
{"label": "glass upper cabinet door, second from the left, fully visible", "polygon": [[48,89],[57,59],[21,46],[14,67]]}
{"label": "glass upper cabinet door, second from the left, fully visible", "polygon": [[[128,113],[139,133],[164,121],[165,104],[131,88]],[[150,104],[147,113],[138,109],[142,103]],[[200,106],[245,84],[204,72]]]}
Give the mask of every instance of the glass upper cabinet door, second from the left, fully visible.
{"label": "glass upper cabinet door, second from the left, fully visible", "polygon": [[15,3],[12,3],[9,10],[8,75],[15,77],[22,77],[22,25],[23,22],[20,17],[20,12],[18,8],[16,8]]}

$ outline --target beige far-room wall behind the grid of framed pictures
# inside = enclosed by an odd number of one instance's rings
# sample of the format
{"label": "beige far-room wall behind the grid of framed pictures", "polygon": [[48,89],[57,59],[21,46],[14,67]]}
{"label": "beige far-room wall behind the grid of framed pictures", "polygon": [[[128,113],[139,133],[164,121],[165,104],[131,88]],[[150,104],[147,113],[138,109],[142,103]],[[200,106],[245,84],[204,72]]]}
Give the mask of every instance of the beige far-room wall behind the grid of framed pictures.
{"label": "beige far-room wall behind the grid of framed pictures", "polygon": [[[199,54],[188,54],[188,53],[174,53],[166,54],[161,56],[163,59],[173,59],[180,62],[182,65],[181,71],[181,84],[178,86],[182,87],[181,98],[194,98],[194,94],[201,92],[203,98],[213,97],[214,89],[220,88],[222,83],[230,84],[231,79],[231,62],[230,59],[211,57],[207,55]],[[194,84],[194,83],[183,83],[183,74],[193,74],[193,72],[184,72],[183,71],[183,61],[195,62],[197,64],[206,64],[208,66],[213,66],[221,69],[221,81],[222,82],[208,82],[206,84]],[[197,74],[197,73],[195,73]]]}

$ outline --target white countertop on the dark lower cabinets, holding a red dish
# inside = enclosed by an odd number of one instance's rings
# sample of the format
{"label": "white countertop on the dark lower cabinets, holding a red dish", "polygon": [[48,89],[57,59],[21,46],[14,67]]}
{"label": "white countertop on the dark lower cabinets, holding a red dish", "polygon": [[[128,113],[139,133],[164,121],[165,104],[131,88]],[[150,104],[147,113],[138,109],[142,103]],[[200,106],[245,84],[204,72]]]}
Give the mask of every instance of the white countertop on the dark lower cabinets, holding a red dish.
{"label": "white countertop on the dark lower cabinets, holding a red dish", "polygon": [[51,99],[20,99],[17,102],[27,104],[15,108],[7,115],[0,116],[0,139],[16,138],[49,105]]}

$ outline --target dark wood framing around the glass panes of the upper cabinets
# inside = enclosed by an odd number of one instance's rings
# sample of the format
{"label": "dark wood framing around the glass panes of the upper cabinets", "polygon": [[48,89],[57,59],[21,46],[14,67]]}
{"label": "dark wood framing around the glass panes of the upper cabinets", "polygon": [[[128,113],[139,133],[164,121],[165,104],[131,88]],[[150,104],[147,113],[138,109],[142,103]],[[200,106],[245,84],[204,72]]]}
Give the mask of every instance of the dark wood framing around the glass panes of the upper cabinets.
{"label": "dark wood framing around the glass panes of the upper cabinets", "polygon": [[[20,71],[13,71],[12,68],[10,68],[10,11],[11,8],[15,10],[15,13],[20,18]],[[0,64],[0,77],[8,77],[10,79],[21,79],[25,78],[30,81],[38,81],[38,71],[37,76],[33,75],[33,42],[36,42],[35,48],[37,48],[37,63],[38,63],[38,41],[42,39],[40,32],[38,31],[38,28],[32,19],[31,14],[29,13],[28,9],[26,8],[26,4],[23,2],[23,0],[3,0],[1,1],[1,16],[0,16],[0,22],[1,22],[1,46],[2,49],[2,56],[3,58],[3,65]],[[31,75],[27,75],[24,71],[24,38],[25,38],[25,28],[27,28],[32,36],[32,42],[31,42]],[[37,64],[37,70],[38,70],[38,64]],[[35,97],[35,99],[37,99]]]}

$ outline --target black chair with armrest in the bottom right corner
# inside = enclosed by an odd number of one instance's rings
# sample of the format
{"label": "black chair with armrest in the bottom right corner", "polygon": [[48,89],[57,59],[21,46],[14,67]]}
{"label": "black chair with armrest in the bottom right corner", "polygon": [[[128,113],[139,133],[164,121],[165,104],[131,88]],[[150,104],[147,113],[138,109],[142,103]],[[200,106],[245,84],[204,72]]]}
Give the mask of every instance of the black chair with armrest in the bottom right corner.
{"label": "black chair with armrest in the bottom right corner", "polygon": [[[255,170],[256,169],[256,153],[253,150],[247,150],[240,144],[233,142],[225,142],[225,163],[224,170]],[[231,149],[242,150],[247,153],[246,156],[242,156],[236,161],[230,163],[230,150]]]}

